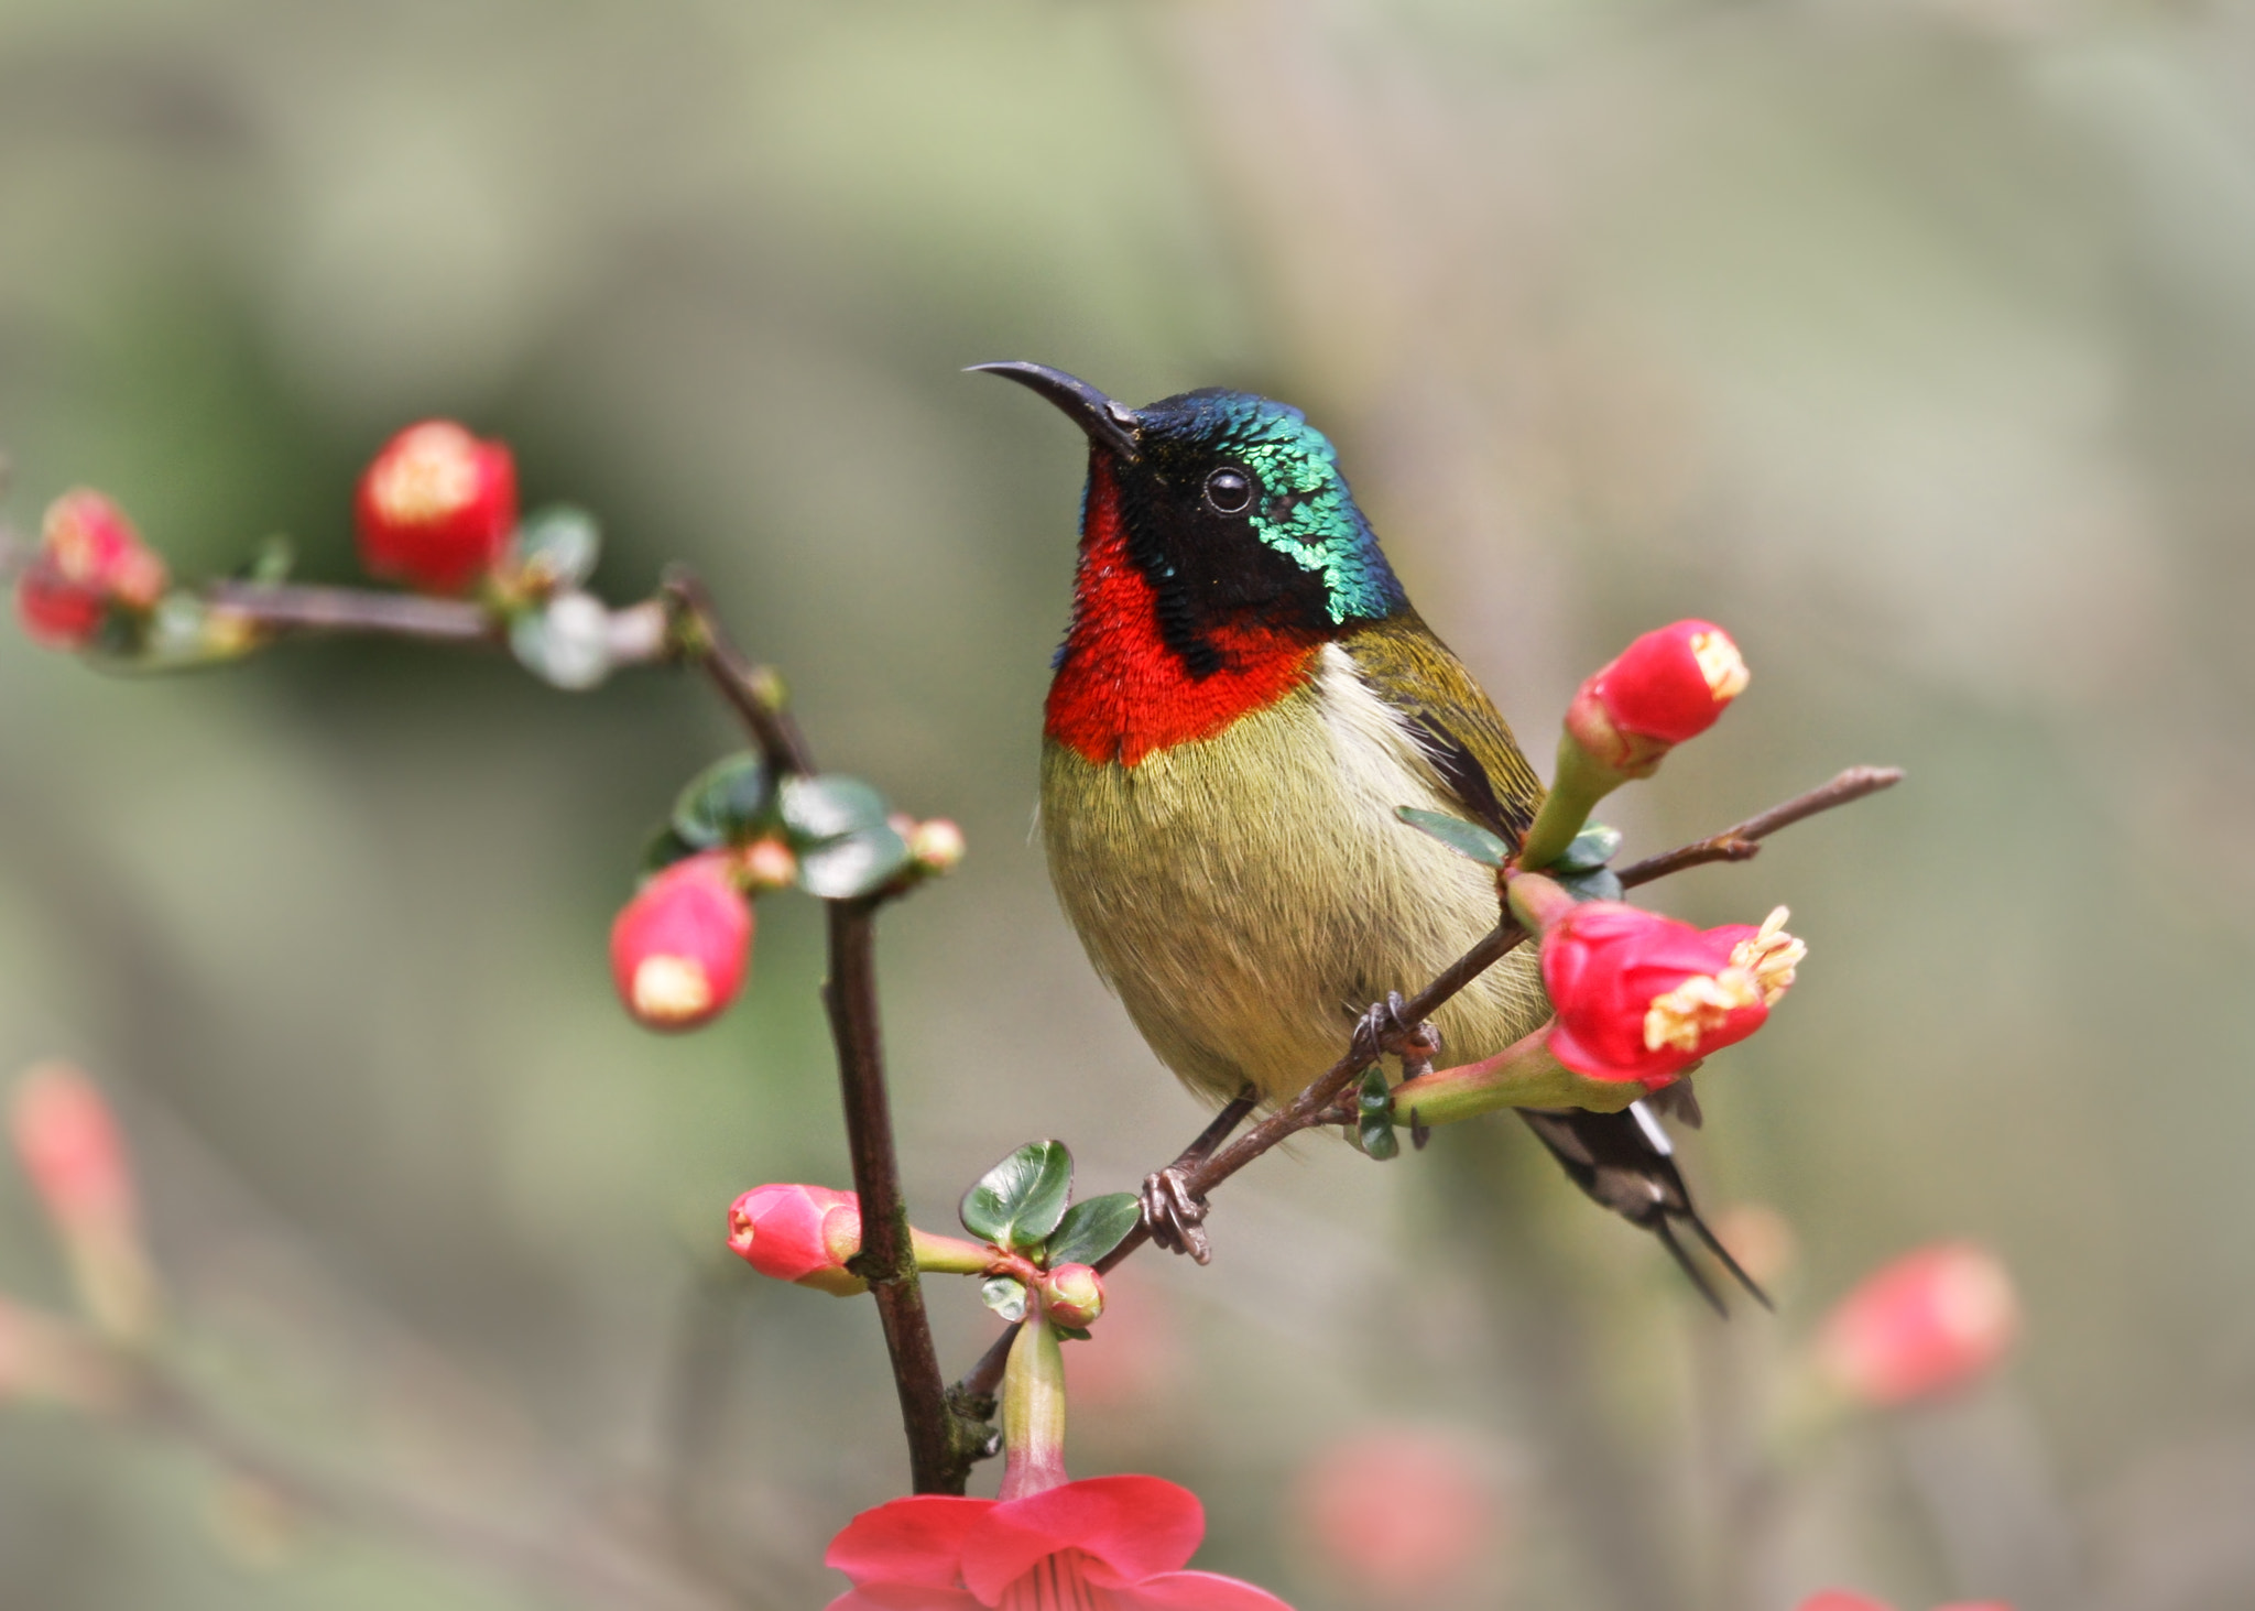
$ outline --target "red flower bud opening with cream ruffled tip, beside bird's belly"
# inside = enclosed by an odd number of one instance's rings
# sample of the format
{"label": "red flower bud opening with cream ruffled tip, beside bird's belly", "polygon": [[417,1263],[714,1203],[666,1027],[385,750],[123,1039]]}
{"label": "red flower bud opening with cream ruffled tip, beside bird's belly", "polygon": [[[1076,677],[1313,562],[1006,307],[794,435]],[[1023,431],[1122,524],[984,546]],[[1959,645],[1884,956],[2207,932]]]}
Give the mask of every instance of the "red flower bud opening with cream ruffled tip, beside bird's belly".
{"label": "red flower bud opening with cream ruffled tip, beside bird's belly", "polygon": [[1689,923],[1590,900],[1542,934],[1551,1056],[1576,1074],[1666,1085],[1761,1029],[1809,948],[1779,907],[1759,927]]}

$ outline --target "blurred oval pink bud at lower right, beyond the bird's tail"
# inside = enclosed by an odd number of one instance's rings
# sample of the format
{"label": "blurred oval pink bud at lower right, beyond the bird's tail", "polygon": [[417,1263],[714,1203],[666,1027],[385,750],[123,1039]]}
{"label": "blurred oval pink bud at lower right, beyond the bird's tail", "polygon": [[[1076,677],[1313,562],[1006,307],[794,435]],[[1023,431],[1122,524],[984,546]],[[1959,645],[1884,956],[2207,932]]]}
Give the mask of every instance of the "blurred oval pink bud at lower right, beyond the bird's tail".
{"label": "blurred oval pink bud at lower right, beyond the bird's tail", "polygon": [[1905,1252],[1824,1320],[1818,1365],[1860,1403],[1948,1392],[1996,1365],[2020,1331],[2011,1277],[1969,1243]]}

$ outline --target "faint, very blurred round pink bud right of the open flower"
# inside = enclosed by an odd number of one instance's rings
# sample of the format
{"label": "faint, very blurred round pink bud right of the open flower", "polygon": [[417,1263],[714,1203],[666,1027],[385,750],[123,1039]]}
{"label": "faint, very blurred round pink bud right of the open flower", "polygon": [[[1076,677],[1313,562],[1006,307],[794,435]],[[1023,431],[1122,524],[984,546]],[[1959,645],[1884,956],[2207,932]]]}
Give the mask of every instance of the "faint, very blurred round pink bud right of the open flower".
{"label": "faint, very blurred round pink bud right of the open flower", "polygon": [[1328,1446],[1292,1489],[1324,1575],[1358,1600],[1459,1600],[1500,1523],[1495,1491],[1454,1440],[1373,1430]]}

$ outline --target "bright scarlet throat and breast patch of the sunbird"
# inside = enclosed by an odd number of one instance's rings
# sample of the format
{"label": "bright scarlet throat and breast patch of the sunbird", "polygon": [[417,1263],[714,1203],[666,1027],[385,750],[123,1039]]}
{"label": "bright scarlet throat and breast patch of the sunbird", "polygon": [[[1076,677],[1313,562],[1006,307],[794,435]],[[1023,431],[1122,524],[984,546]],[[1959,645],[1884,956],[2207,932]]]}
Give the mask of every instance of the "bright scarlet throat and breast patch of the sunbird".
{"label": "bright scarlet throat and breast patch of the sunbird", "polygon": [[1073,578],[1073,627],[1049,684],[1044,731],[1087,760],[1132,767],[1155,749],[1213,738],[1315,675],[1308,632],[1240,625],[1206,634],[1222,668],[1191,677],[1159,636],[1159,593],[1128,557],[1118,483],[1089,456],[1089,508]]}

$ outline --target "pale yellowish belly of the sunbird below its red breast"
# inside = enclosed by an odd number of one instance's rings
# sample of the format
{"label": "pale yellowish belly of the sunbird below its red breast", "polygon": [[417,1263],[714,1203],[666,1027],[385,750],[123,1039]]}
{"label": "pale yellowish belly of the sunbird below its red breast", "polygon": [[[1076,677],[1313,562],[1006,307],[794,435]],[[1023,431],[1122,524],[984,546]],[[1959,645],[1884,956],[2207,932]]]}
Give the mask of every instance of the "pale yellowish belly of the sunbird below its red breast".
{"label": "pale yellowish belly of the sunbird below its red breast", "polygon": [[[1195,1090],[1288,1097],[1387,991],[1421,991],[1497,918],[1488,869],[1403,824],[1452,810],[1344,657],[1215,738],[1091,763],[1042,754],[1042,842],[1067,918],[1152,1051]],[[1443,1056],[1549,1013],[1531,948],[1441,1009]]]}

